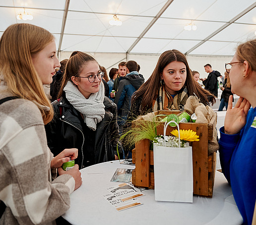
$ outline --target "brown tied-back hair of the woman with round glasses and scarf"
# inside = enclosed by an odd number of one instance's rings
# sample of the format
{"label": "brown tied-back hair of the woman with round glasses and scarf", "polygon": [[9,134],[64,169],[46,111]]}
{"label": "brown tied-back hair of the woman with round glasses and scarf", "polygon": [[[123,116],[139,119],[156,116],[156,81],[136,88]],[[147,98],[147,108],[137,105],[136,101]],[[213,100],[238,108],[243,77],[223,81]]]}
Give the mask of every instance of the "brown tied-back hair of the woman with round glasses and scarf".
{"label": "brown tied-back hair of the woman with round glasses and scarf", "polygon": [[[78,74],[81,71],[81,68],[89,61],[95,61],[95,58],[79,51],[74,51],[70,55],[67,63],[66,63],[66,68],[65,72],[63,74],[63,79],[62,79],[62,85],[60,88],[60,92],[58,94],[58,98],[61,98],[63,95],[63,89],[66,86],[67,81],[71,81],[72,76],[78,76]],[[78,80],[80,80],[80,77],[77,77]]]}

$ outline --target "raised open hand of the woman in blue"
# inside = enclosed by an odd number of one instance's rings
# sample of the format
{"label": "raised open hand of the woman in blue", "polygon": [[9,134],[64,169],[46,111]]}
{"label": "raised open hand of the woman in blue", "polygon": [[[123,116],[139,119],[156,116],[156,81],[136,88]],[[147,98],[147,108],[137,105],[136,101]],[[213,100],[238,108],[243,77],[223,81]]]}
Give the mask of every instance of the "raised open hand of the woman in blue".
{"label": "raised open hand of the woman in blue", "polygon": [[233,96],[229,96],[228,109],[225,116],[224,128],[226,134],[237,134],[246,124],[246,116],[251,104],[244,98],[239,98],[232,109]]}

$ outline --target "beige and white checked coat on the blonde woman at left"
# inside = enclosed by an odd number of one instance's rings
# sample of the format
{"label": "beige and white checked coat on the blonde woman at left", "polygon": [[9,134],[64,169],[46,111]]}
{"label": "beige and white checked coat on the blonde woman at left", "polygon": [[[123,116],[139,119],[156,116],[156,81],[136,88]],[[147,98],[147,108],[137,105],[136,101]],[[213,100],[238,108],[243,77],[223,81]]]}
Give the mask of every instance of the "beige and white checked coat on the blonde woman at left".
{"label": "beige and white checked coat on the blonde woman at left", "polygon": [[38,106],[24,99],[0,105],[0,225],[55,224],[69,208],[75,181],[68,174],[52,181],[52,158]]}

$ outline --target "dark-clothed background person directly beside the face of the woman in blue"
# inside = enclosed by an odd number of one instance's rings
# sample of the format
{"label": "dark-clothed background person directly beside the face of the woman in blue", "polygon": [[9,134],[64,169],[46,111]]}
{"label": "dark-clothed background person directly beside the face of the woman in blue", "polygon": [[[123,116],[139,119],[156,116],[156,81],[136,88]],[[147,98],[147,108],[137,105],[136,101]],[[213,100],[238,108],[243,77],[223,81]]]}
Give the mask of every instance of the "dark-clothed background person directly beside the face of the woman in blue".
{"label": "dark-clothed background person directly beside the face of the woman in blue", "polygon": [[224,82],[223,87],[220,88],[222,90],[222,94],[220,97],[220,106],[219,106],[218,111],[222,111],[224,106],[226,107],[226,110],[228,109],[229,96],[233,95],[233,93],[231,92],[231,84],[230,84],[229,74],[227,73],[227,71],[225,71],[224,74],[225,74],[225,82]]}

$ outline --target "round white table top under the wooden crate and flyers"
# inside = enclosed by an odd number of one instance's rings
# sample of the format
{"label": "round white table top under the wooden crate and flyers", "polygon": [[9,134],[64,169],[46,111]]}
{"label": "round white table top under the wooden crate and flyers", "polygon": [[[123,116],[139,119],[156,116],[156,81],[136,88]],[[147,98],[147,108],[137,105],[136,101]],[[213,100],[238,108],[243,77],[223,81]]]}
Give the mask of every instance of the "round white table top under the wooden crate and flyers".
{"label": "round white table top under the wooden crate and flyers", "polygon": [[63,215],[72,225],[241,225],[243,219],[236,206],[231,187],[224,175],[216,171],[212,198],[194,195],[193,203],[155,201],[154,190],[144,190],[138,200],[143,205],[117,211],[103,195],[117,168],[134,169],[119,161],[81,169],[82,185],[70,195],[70,208]]}

